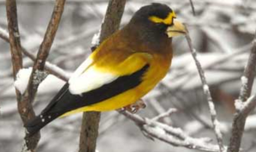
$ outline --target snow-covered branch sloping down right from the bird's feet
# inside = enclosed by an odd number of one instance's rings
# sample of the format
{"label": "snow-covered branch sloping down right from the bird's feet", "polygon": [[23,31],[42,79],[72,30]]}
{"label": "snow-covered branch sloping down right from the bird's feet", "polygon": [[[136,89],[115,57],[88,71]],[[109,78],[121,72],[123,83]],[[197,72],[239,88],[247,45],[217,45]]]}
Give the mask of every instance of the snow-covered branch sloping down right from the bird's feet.
{"label": "snow-covered branch sloping down right from the bird's feet", "polygon": [[150,139],[158,139],[177,147],[186,147],[205,152],[219,152],[217,145],[212,145],[209,138],[192,138],[186,135],[180,128],[173,128],[163,123],[156,122],[155,119],[142,118],[139,115],[131,114],[126,111],[119,113],[132,120]]}

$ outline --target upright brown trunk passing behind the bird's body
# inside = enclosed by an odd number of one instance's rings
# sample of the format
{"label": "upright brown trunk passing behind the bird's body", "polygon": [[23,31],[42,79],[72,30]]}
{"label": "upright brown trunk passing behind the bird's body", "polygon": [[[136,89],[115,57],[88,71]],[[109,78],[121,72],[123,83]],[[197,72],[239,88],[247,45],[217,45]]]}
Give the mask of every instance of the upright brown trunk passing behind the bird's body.
{"label": "upright brown trunk passing behind the bird's body", "polygon": [[[120,25],[124,12],[126,0],[110,0],[104,22],[101,26],[100,42],[113,34]],[[96,47],[93,46],[92,51]],[[91,121],[91,120],[94,121]],[[82,127],[80,133],[79,152],[95,152],[98,128],[100,122],[99,112],[85,112],[83,114]]]}

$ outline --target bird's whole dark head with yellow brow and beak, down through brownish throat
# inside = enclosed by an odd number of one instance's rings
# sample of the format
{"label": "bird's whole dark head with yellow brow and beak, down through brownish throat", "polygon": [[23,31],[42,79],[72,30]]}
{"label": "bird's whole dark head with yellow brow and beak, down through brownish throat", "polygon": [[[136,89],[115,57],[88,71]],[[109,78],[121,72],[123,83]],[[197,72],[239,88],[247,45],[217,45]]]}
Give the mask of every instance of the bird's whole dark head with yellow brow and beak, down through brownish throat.
{"label": "bird's whole dark head with yellow brow and beak, down through brownish throat", "polygon": [[124,33],[151,47],[166,46],[171,37],[184,33],[183,24],[175,18],[175,12],[166,4],[152,3],[135,12]]}

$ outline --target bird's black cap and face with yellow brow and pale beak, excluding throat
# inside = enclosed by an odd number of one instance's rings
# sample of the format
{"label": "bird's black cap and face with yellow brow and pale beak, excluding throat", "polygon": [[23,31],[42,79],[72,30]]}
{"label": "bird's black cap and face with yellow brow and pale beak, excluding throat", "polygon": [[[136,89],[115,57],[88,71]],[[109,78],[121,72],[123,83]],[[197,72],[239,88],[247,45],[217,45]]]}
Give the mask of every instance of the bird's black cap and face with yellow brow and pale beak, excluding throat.
{"label": "bird's black cap and face with yellow brow and pale beak, excluding throat", "polygon": [[137,26],[138,32],[155,38],[170,38],[186,33],[185,26],[176,19],[175,12],[169,6],[161,3],[152,3],[141,7],[129,24]]}

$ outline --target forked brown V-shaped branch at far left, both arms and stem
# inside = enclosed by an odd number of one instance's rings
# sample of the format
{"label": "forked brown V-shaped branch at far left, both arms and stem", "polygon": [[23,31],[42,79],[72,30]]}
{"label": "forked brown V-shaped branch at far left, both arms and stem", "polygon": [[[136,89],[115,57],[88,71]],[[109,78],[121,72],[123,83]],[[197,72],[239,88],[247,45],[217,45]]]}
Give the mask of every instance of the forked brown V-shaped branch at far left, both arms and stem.
{"label": "forked brown V-shaped branch at far left, both arms and stem", "polygon": [[[29,84],[27,86],[27,90],[23,95],[19,91],[17,92],[17,98],[18,98],[18,110],[21,115],[22,121],[24,124],[26,124],[30,119],[35,117],[35,112],[32,107],[32,102],[34,101],[34,97],[37,92],[37,88],[42,80],[39,75],[36,75],[36,73],[39,73],[40,71],[44,70],[46,58],[49,54],[52,42],[54,40],[61,14],[64,9],[64,3],[65,0],[56,0],[56,5],[54,8],[54,12],[51,18],[51,21],[48,25],[46,35],[44,38],[44,41],[42,42],[38,56],[36,58],[33,72],[30,77]],[[11,45],[11,52],[13,56],[13,63],[14,64],[14,77],[16,80],[16,75],[18,73],[18,70],[22,68],[22,46],[20,43],[20,33],[18,28],[18,21],[17,21],[17,6],[15,0],[7,0],[7,15],[8,15],[8,27],[9,27],[9,42]],[[2,36],[3,37],[3,34]],[[6,35],[8,37],[8,35]],[[6,40],[6,39],[5,39]],[[8,40],[7,40],[8,41]],[[35,80],[39,80],[35,84]],[[37,147],[37,144],[40,140],[40,134],[36,134],[33,137],[29,137],[28,134],[26,134],[25,137],[25,143],[22,149],[22,152],[35,152],[35,149]]]}

